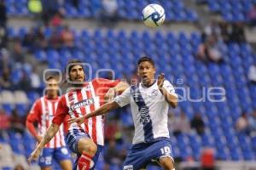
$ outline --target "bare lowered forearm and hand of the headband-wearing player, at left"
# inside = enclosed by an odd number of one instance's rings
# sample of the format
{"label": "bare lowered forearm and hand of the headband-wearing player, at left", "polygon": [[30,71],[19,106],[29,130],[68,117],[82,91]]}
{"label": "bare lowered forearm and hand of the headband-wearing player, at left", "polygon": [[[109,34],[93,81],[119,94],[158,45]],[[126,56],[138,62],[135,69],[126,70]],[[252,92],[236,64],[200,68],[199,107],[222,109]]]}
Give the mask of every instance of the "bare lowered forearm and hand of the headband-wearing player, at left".
{"label": "bare lowered forearm and hand of the headband-wearing player, at left", "polygon": [[47,129],[46,133],[44,134],[44,138],[38,144],[35,150],[33,150],[32,154],[28,158],[28,162],[31,163],[32,161],[37,161],[38,157],[40,156],[41,150],[44,148],[45,144],[48,144],[49,141],[55,136],[55,133],[58,132],[60,126],[52,123],[49,128]]}

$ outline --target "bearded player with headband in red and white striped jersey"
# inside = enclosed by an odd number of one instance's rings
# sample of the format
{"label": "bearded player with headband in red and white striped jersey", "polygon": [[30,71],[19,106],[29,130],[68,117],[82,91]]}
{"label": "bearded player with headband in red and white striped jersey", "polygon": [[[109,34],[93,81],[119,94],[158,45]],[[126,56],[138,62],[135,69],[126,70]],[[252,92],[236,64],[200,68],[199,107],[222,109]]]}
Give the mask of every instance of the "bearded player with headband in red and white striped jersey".
{"label": "bearded player with headband in red and white striped jersey", "polygon": [[[111,98],[115,93],[122,93],[128,85],[119,80],[110,81],[97,78],[91,82],[84,82],[83,63],[77,59],[70,60],[67,65],[67,80],[73,83],[73,90],[61,96],[56,115],[44,139],[32,152],[29,161],[36,160],[42,150],[58,131],[66,116],[80,117],[96,110],[104,103],[105,98]],[[68,82],[68,81],[67,81]],[[104,145],[103,117],[96,116],[86,120],[85,126],[73,123],[66,130],[67,144],[78,154],[76,167],[78,169],[93,169]],[[97,145],[96,145],[97,144]]]}

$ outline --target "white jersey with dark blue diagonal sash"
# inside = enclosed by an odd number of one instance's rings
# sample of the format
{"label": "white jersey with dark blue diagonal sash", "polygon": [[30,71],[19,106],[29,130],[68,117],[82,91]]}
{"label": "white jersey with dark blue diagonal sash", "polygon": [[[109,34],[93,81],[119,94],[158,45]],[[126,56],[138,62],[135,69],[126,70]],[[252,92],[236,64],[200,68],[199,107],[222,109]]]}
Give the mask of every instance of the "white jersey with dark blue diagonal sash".
{"label": "white jersey with dark blue diagonal sash", "polygon": [[[165,80],[163,87],[177,97],[172,84]],[[169,104],[160,93],[157,82],[149,87],[142,83],[127,88],[114,99],[120,107],[130,104],[135,133],[132,144],[148,143],[158,138],[170,138],[167,127]]]}

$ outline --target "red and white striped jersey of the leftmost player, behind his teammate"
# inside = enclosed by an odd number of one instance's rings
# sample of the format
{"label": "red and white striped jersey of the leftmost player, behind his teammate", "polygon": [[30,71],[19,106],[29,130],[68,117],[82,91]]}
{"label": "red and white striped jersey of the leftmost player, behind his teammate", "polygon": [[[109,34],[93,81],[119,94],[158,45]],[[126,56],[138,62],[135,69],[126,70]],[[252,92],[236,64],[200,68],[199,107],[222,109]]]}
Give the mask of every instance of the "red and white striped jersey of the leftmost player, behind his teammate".
{"label": "red and white striped jersey of the leftmost player, behind his teammate", "polygon": [[[55,116],[59,99],[59,97],[57,99],[47,99],[47,96],[37,99],[27,116],[27,122],[38,122],[38,134],[42,137],[46,133],[47,128]],[[34,136],[36,135],[32,132],[32,128],[28,127],[28,129]],[[64,128],[63,124],[61,124],[59,131],[55,134],[55,137],[51,139],[45,147],[58,148],[65,145]]]}

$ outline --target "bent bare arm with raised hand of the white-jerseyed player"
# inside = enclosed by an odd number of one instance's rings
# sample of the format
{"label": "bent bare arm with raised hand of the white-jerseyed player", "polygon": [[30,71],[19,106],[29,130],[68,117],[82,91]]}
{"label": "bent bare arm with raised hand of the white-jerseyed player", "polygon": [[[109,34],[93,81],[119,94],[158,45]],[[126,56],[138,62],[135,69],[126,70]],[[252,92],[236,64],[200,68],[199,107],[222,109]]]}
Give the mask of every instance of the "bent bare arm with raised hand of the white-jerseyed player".
{"label": "bent bare arm with raised hand of the white-jerseyed player", "polygon": [[161,73],[157,79],[157,86],[160,89],[161,94],[163,94],[166,97],[166,101],[170,105],[172,105],[172,108],[175,108],[177,106],[177,97],[168,93],[166,88],[163,88],[164,81],[165,81],[165,75]]}

